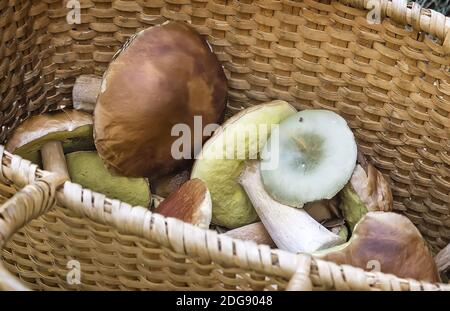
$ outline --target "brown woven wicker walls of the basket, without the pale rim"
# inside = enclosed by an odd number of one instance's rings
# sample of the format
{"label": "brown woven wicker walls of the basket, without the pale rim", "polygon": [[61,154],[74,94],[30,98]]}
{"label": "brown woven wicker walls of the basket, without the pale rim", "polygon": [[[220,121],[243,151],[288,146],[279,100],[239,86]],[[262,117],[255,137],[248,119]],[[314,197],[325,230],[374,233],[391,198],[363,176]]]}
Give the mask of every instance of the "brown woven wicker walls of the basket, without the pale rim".
{"label": "brown woven wicker walls of the basket, without the pale rim", "polygon": [[[450,242],[448,18],[401,1],[381,2],[381,24],[369,24],[367,10],[344,4],[362,7],[364,1],[356,0],[80,2],[81,24],[70,25],[65,1],[0,0],[1,141],[32,114],[70,107],[75,78],[101,75],[138,29],[167,19],[189,21],[224,65],[230,112],[274,98],[299,109],[337,111],[361,151],[390,178],[395,209],[434,251]],[[8,191],[2,190],[5,198]],[[69,257],[90,262],[86,288],[134,289],[146,281],[150,288],[160,282],[167,289],[240,288],[236,279],[244,279],[242,288],[282,289],[288,280],[208,264],[205,272],[195,259],[156,242],[140,246],[145,243],[58,208],[15,234],[3,256],[30,286],[46,289],[65,286],[58,271],[67,271],[62,265]],[[161,274],[145,275],[143,262]],[[122,285],[108,277],[111,266],[127,272]],[[189,279],[177,269],[191,271]],[[195,278],[203,274],[214,277]]]}

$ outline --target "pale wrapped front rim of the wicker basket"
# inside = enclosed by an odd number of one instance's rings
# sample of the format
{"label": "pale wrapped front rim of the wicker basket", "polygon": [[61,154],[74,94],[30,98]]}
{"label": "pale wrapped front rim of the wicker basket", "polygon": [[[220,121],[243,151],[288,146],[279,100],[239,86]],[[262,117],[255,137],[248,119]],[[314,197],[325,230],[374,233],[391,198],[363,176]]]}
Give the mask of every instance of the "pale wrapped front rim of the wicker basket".
{"label": "pale wrapped front rim of the wicker basket", "polygon": [[[0,181],[23,188],[51,172],[4,150],[0,145]],[[305,258],[312,283],[324,289],[342,290],[445,290],[450,284],[429,283],[399,278],[382,272],[367,272],[350,265],[337,265],[309,254],[293,254],[252,241],[242,241],[202,229],[174,218],[152,213],[142,206],[131,206],[107,198],[81,185],[66,181],[56,191],[59,206],[81,217],[115,228],[120,234],[133,235],[149,242],[159,243],[183,255],[212,260],[226,267],[252,270],[275,277],[292,279],[304,269]],[[185,236],[195,237],[192,241]],[[201,241],[201,242],[198,242]],[[304,275],[304,274],[302,274]],[[362,281],[365,280],[366,282]],[[6,280],[6,282],[11,281]],[[339,288],[340,287],[340,288]]]}

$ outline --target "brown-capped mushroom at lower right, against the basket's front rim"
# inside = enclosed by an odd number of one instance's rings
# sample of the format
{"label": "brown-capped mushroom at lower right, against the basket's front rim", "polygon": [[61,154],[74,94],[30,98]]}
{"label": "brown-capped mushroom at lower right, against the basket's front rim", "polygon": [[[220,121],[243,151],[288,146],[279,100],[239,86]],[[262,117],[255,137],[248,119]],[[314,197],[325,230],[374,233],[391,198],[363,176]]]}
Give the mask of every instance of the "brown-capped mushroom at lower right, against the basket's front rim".
{"label": "brown-capped mushroom at lower right, against the basket's front rim", "polygon": [[440,281],[419,230],[407,217],[392,212],[368,212],[347,243],[313,255],[362,269],[375,267],[402,278]]}

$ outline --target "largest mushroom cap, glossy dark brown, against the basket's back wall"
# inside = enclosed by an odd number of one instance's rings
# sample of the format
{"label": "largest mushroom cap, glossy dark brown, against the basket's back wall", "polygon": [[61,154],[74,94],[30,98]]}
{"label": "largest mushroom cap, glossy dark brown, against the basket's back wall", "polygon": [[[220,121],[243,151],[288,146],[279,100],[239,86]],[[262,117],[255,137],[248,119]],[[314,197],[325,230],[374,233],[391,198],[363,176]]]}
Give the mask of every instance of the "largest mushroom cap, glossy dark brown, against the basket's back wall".
{"label": "largest mushroom cap, glossy dark brown, against the basket's back wall", "polygon": [[94,112],[97,150],[110,169],[125,176],[169,173],[187,162],[171,154],[179,138],[171,135],[172,127],[187,124],[193,137],[194,116],[202,117],[203,127],[219,123],[226,93],[220,63],[187,24],[141,31],[104,75]]}

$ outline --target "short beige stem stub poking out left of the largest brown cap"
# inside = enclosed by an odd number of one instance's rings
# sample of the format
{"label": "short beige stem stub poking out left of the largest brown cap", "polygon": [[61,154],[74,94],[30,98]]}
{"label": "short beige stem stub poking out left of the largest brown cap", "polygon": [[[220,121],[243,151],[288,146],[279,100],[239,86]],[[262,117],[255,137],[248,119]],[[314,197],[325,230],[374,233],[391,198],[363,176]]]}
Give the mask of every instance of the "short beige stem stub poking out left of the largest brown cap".
{"label": "short beige stem stub poking out left of the largest brown cap", "polygon": [[75,81],[72,91],[73,107],[76,110],[93,112],[100,93],[102,79],[95,75],[81,75]]}

